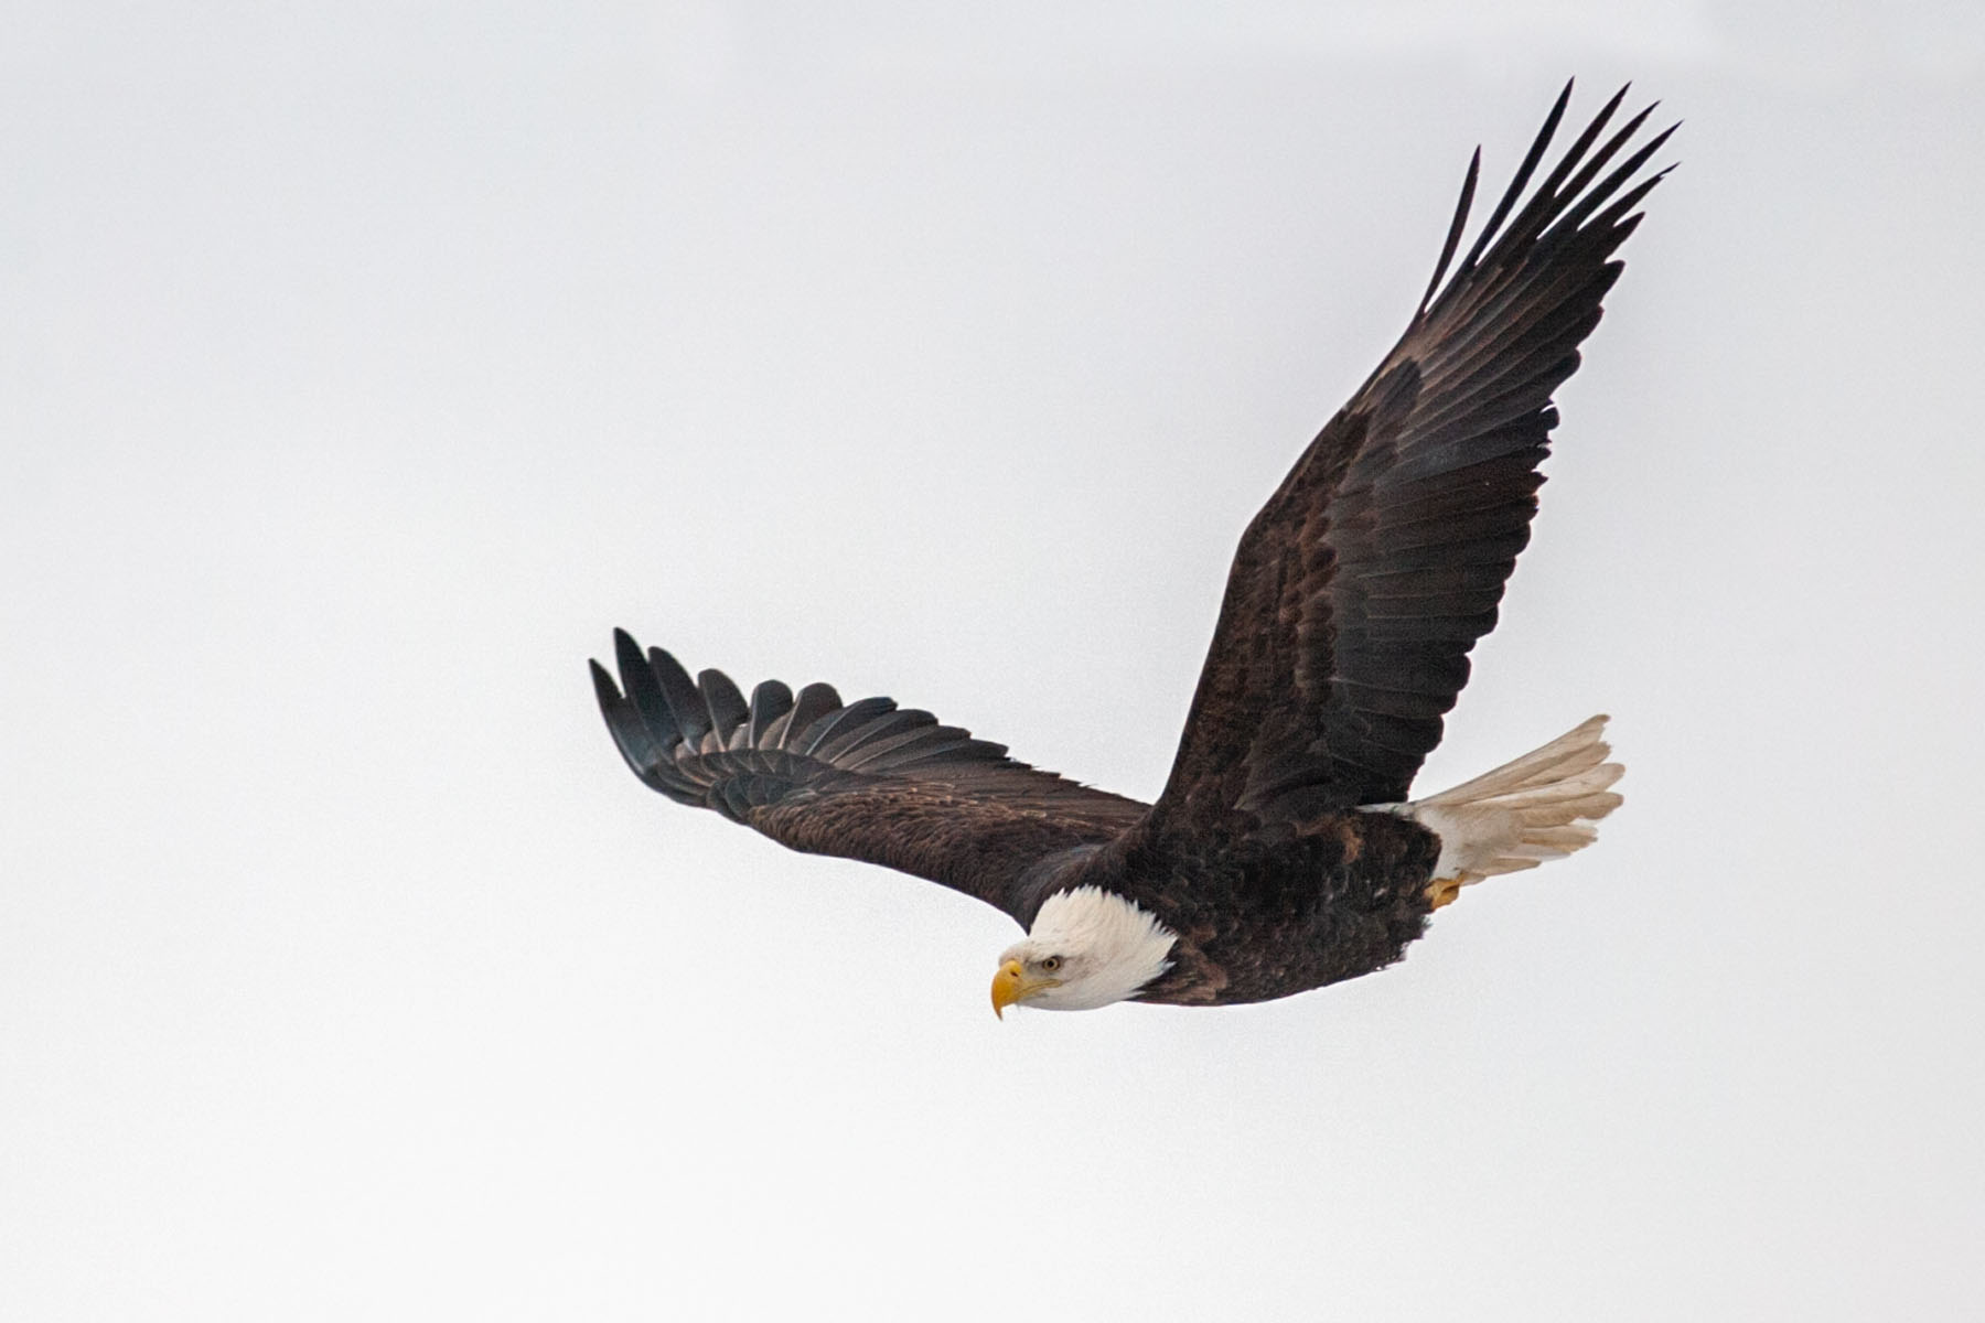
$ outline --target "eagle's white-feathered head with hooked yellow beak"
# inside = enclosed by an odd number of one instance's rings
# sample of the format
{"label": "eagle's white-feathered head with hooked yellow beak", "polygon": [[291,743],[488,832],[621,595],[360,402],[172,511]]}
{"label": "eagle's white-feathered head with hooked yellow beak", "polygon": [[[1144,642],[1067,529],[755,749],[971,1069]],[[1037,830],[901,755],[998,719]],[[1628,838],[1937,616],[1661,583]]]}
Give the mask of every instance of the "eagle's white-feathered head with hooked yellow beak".
{"label": "eagle's white-feathered head with hooked yellow beak", "polygon": [[1131,996],[1171,968],[1179,934],[1114,891],[1078,887],[1048,897],[1026,938],[992,976],[992,1012],[1038,1006],[1086,1012]]}

